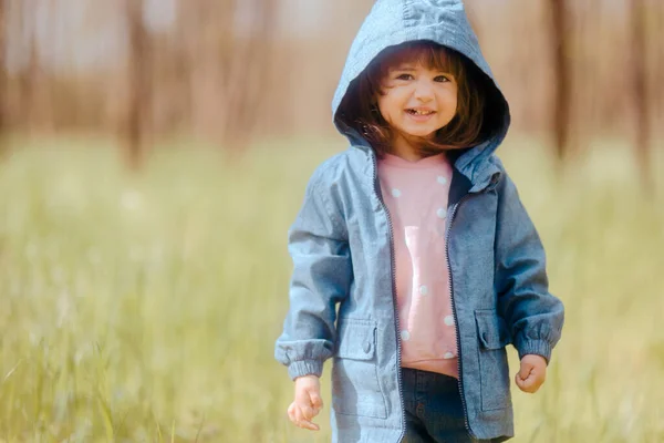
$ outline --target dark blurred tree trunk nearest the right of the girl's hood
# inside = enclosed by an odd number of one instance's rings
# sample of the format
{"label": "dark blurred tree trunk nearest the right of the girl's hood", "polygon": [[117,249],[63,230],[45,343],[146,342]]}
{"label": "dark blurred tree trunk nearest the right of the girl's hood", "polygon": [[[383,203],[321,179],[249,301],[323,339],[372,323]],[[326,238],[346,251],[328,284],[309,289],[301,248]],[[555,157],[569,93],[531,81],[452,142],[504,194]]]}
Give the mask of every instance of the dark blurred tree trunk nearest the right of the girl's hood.
{"label": "dark blurred tree trunk nearest the right of the girl's hood", "polygon": [[566,0],[549,0],[551,7],[553,42],[553,133],[556,155],[564,161],[570,142],[571,66],[569,64],[570,37]]}

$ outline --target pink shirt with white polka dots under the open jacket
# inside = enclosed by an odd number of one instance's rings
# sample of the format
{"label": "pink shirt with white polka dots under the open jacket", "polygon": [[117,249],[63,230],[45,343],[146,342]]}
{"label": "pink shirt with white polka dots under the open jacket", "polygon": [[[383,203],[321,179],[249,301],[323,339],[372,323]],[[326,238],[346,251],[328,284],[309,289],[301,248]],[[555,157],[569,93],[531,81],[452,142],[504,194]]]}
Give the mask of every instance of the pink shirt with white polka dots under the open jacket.
{"label": "pink shirt with white polka dots under the open jacket", "polygon": [[456,328],[445,254],[452,166],[444,153],[378,161],[392,219],[402,367],[458,378]]}

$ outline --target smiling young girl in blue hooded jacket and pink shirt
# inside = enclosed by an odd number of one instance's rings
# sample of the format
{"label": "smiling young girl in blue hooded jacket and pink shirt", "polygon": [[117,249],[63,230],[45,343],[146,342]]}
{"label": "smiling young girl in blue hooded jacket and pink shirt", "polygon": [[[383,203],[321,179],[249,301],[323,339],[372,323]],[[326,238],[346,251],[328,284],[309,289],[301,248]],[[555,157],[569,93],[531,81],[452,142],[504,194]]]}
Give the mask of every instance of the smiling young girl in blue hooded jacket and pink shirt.
{"label": "smiling young girl in blue hooded jacket and pink shirt", "polygon": [[289,231],[290,310],[276,347],[291,421],[318,430],[333,358],[334,442],[513,435],[517,385],[543,383],[561,302],[494,152],[509,109],[458,0],[378,0],[349,56],[323,163]]}

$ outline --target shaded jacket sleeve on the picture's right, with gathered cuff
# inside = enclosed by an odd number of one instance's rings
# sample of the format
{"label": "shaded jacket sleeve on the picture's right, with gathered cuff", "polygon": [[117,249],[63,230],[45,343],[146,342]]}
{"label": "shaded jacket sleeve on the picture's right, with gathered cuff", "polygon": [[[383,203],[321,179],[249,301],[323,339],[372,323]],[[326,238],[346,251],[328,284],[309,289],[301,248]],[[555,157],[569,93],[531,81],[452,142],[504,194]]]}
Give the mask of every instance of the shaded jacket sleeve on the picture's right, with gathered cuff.
{"label": "shaded jacket sleeve on the picture's right, with gathered cuff", "polygon": [[505,173],[498,184],[496,290],[498,310],[507,321],[519,359],[551,359],[560,340],[564,308],[549,293],[546,255],[540,237],[513,182]]}

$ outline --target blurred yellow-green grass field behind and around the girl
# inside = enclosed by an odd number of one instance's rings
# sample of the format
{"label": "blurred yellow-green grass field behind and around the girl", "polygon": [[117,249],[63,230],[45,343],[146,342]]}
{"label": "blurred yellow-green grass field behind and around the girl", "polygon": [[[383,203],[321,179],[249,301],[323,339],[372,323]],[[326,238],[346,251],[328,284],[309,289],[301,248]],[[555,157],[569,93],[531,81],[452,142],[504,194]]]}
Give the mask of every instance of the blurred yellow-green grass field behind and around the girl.
{"label": "blurred yellow-green grass field behind and around the girl", "polygon": [[[0,442],[326,442],[293,427],[273,360],[287,229],[341,142],[245,156],[184,146],[141,175],[94,140],[0,163]],[[620,146],[562,176],[537,144],[502,158],[567,307],[542,390],[513,390],[515,442],[664,442],[664,174],[646,197]],[[517,370],[510,348],[511,372]]]}

